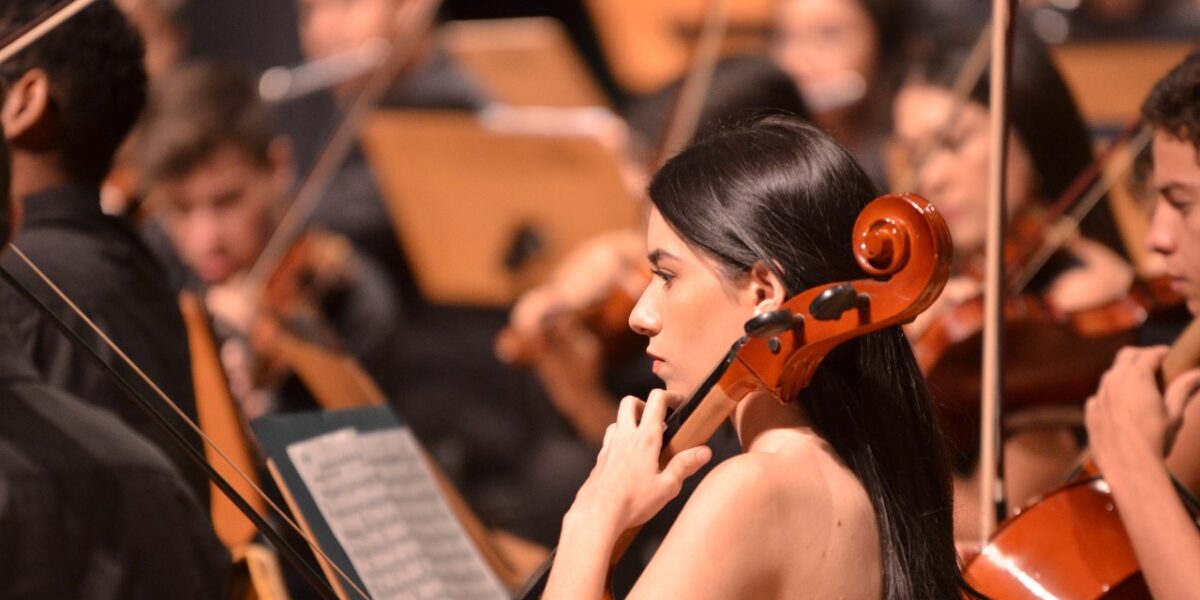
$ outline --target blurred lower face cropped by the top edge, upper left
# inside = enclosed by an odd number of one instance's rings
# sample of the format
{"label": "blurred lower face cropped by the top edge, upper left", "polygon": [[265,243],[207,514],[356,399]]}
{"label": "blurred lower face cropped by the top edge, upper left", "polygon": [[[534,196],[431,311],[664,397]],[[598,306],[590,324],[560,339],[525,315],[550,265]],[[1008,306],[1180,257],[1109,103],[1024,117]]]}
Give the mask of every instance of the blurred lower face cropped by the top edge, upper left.
{"label": "blurred lower face cropped by the top edge, upper left", "polygon": [[296,0],[300,43],[322,59],[395,35],[397,8],[408,0]]}

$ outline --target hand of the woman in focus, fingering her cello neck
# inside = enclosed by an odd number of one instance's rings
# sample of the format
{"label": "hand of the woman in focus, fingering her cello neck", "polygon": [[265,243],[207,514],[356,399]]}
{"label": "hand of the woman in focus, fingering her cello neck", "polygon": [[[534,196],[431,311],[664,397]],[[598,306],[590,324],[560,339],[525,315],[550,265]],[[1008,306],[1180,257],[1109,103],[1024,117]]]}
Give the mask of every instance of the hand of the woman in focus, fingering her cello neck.
{"label": "hand of the woman in focus, fingering her cello neck", "polygon": [[659,468],[667,404],[678,406],[682,400],[666,390],[652,391],[644,403],[632,396],[622,400],[617,422],[608,426],[596,466],[568,518],[599,521],[623,532],[649,521],[679,493],[683,481],[713,456],[708,446],[697,446]]}

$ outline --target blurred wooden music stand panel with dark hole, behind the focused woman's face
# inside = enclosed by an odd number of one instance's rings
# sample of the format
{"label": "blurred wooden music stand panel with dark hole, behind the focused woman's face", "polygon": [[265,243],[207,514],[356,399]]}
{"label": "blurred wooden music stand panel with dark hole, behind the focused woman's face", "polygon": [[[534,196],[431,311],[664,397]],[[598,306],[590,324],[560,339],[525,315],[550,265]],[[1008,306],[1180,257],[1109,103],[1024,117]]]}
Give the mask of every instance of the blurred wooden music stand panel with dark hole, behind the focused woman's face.
{"label": "blurred wooden music stand panel with dark hole, behind the focused woman's face", "polygon": [[[494,132],[473,114],[385,110],[362,136],[421,292],[506,306],[580,241],[642,206],[592,137]],[[527,258],[508,265],[517,241]]]}

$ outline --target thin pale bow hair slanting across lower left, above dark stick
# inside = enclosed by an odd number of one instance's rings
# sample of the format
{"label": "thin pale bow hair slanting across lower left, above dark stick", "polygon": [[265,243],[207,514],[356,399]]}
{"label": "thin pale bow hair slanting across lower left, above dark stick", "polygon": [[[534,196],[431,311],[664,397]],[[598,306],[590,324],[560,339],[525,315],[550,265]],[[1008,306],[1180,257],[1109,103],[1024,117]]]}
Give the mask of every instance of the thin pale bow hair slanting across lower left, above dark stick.
{"label": "thin pale bow hair slanting across lower left, above dark stick", "polygon": [[296,524],[295,521],[293,521],[292,517],[289,517],[274,500],[271,500],[271,498],[266,496],[266,492],[264,492],[260,487],[258,487],[258,485],[254,484],[254,481],[248,475],[246,475],[246,473],[242,472],[241,468],[238,467],[238,464],[226,454],[226,451],[221,446],[218,446],[215,442],[212,442],[212,438],[210,438],[204,432],[204,430],[200,428],[199,425],[192,421],[192,419],[187,416],[187,413],[185,413],[181,408],[179,408],[179,404],[176,404],[175,401],[172,400],[170,396],[168,396],[167,392],[163,391],[162,388],[160,388],[158,384],[156,384],[154,379],[151,379],[150,376],[146,374],[145,371],[143,371],[142,367],[139,367],[137,362],[134,362],[133,359],[131,359],[128,354],[126,354],[125,350],[122,350],[120,346],[118,346],[116,342],[114,342],[113,338],[109,337],[108,334],[106,334],[104,330],[101,329],[100,325],[97,325],[96,322],[92,320],[83,311],[83,308],[80,308],[79,305],[77,305],[66,294],[66,292],[62,290],[62,288],[60,288],[53,280],[50,280],[50,277],[46,275],[46,272],[42,271],[24,252],[22,252],[16,244],[10,244],[8,248],[12,251],[13,254],[17,256],[17,258],[19,258],[23,263],[25,263],[25,265],[30,269],[30,271],[32,271],[34,275],[36,275],[37,278],[41,280],[47,286],[47,288],[49,288],[54,293],[54,295],[58,296],[59,300],[61,300],[71,310],[72,313],[74,313],[76,317],[79,317],[79,319],[83,320],[84,325],[86,325],[88,329],[91,330],[91,332],[94,332],[108,349],[113,350],[113,353],[116,354],[116,356],[121,360],[121,362],[125,364],[125,366],[130,367],[130,370],[133,371],[133,373],[138,377],[138,379],[142,380],[142,383],[146,384],[150,388],[150,390],[154,391],[156,396],[158,396],[160,400],[167,403],[167,407],[170,408],[172,413],[174,413],[175,416],[178,416],[181,421],[184,421],[184,424],[187,425],[188,430],[199,436],[205,445],[216,451],[216,454],[221,457],[221,460],[224,461],[224,463],[230,469],[233,469],[234,473],[236,473],[238,478],[241,479],[242,482],[248,485],[254,491],[254,493],[262,497],[263,500],[266,502],[268,506],[270,506],[271,510],[275,512],[275,515],[282,518],[283,522],[292,530],[299,534],[300,538],[304,539],[304,541],[310,546],[310,548],[316,554],[325,559],[325,562],[328,562],[329,565],[335,571],[337,571],[337,574],[342,578],[344,578],[350,584],[350,587],[354,588],[356,593],[361,594],[362,598],[370,598],[368,595],[366,595],[365,592],[359,589],[358,584],[353,580],[350,580],[350,577],[344,571],[342,571],[342,569],[337,566],[337,564],[334,563],[334,560],[329,558],[328,554],[325,554],[325,552],[320,548],[317,541],[311,539],[307,534],[305,534],[305,532],[300,528],[300,526]]}

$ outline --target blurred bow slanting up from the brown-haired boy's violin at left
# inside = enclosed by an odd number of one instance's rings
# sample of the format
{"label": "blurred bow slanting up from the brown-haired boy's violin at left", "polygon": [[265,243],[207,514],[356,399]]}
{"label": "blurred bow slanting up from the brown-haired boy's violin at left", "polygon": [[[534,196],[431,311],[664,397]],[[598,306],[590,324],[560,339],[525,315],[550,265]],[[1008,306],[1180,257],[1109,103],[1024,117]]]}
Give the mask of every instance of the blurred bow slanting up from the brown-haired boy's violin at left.
{"label": "blurred bow slanting up from the brown-haired boy's violin at left", "polygon": [[[268,276],[275,271],[278,263],[287,254],[288,248],[295,241],[296,235],[307,224],[308,218],[317,210],[320,199],[334,175],[341,167],[346,155],[354,145],[359,125],[367,114],[376,107],[379,98],[388,91],[400,70],[408,61],[421,42],[421,31],[427,30],[437,14],[440,0],[416,2],[415,8],[410,8],[408,18],[403,19],[397,28],[396,37],[392,40],[391,49],[383,65],[371,74],[366,85],[354,98],[341,125],[334,131],[325,149],[317,158],[317,163],[308,172],[295,199],[280,218],[271,238],[263,246],[254,264],[246,274],[245,294],[257,298]],[[412,5],[406,5],[412,6]]]}

